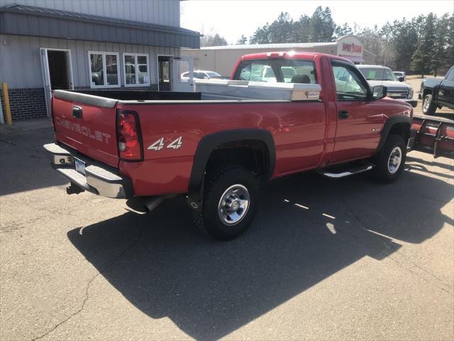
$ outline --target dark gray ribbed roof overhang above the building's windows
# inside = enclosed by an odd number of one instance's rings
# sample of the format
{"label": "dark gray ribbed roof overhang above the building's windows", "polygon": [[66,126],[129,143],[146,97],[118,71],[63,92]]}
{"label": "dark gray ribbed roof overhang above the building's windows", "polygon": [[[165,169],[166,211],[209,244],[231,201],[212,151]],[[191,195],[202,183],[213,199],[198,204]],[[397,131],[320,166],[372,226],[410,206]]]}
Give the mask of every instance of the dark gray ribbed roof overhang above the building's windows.
{"label": "dark gray ribbed roof overhang above the building's windows", "polygon": [[23,5],[0,8],[0,34],[200,48],[200,33],[184,28]]}

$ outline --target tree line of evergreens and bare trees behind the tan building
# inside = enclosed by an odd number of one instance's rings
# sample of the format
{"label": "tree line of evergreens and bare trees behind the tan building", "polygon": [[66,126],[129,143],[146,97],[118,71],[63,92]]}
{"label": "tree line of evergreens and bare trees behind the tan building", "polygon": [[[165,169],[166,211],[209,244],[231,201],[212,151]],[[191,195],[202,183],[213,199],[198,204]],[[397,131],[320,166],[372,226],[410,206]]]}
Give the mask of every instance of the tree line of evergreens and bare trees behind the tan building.
{"label": "tree line of evergreens and bare trees behind the tan building", "polygon": [[[427,75],[437,74],[454,64],[454,14],[443,16],[428,13],[411,19],[387,22],[381,28],[360,27],[356,23],[336,24],[331,9],[317,7],[312,16],[293,20],[282,12],[275,21],[258,27],[249,39],[242,35],[239,45],[268,43],[323,43],[353,34],[363,48],[376,55],[375,62],[393,70]],[[227,45],[217,33],[204,36],[202,46]]]}

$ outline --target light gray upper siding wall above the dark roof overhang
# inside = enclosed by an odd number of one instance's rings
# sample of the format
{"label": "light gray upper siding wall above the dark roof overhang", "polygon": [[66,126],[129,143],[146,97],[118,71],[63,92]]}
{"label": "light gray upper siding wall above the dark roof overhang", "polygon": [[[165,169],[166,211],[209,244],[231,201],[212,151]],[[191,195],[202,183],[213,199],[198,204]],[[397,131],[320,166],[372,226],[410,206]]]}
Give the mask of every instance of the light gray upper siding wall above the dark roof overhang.
{"label": "light gray upper siding wall above the dark roof overhang", "polygon": [[0,0],[0,7],[11,4],[179,27],[179,0]]}

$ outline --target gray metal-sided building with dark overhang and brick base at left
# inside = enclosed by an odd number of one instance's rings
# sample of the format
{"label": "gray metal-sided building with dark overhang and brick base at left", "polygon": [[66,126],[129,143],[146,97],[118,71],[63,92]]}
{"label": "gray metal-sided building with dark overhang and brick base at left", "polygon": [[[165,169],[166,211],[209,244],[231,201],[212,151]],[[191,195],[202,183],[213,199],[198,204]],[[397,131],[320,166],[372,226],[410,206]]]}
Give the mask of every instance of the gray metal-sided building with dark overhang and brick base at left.
{"label": "gray metal-sided building with dark overhang and brick base at left", "polygon": [[180,48],[200,47],[179,15],[179,0],[0,0],[13,120],[46,117],[53,89],[174,90]]}

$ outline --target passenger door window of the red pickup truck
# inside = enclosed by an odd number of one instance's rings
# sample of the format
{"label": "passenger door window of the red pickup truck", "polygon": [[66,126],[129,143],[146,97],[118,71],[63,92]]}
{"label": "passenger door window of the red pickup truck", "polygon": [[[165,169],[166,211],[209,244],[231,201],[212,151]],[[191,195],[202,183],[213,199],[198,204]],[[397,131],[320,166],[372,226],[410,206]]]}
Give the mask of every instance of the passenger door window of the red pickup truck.
{"label": "passenger door window of the red pickup truck", "polygon": [[352,68],[343,65],[333,65],[333,75],[339,100],[367,99],[367,87],[362,84],[360,77]]}

